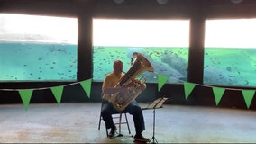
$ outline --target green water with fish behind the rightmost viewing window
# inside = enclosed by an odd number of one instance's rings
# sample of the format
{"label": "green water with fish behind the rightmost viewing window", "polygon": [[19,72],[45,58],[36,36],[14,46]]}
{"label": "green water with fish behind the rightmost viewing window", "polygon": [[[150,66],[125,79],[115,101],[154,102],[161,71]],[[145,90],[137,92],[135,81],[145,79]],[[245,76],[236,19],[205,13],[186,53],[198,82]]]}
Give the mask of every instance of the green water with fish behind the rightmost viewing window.
{"label": "green water with fish behind the rightmost viewing window", "polygon": [[256,49],[207,48],[204,83],[256,86]]}

